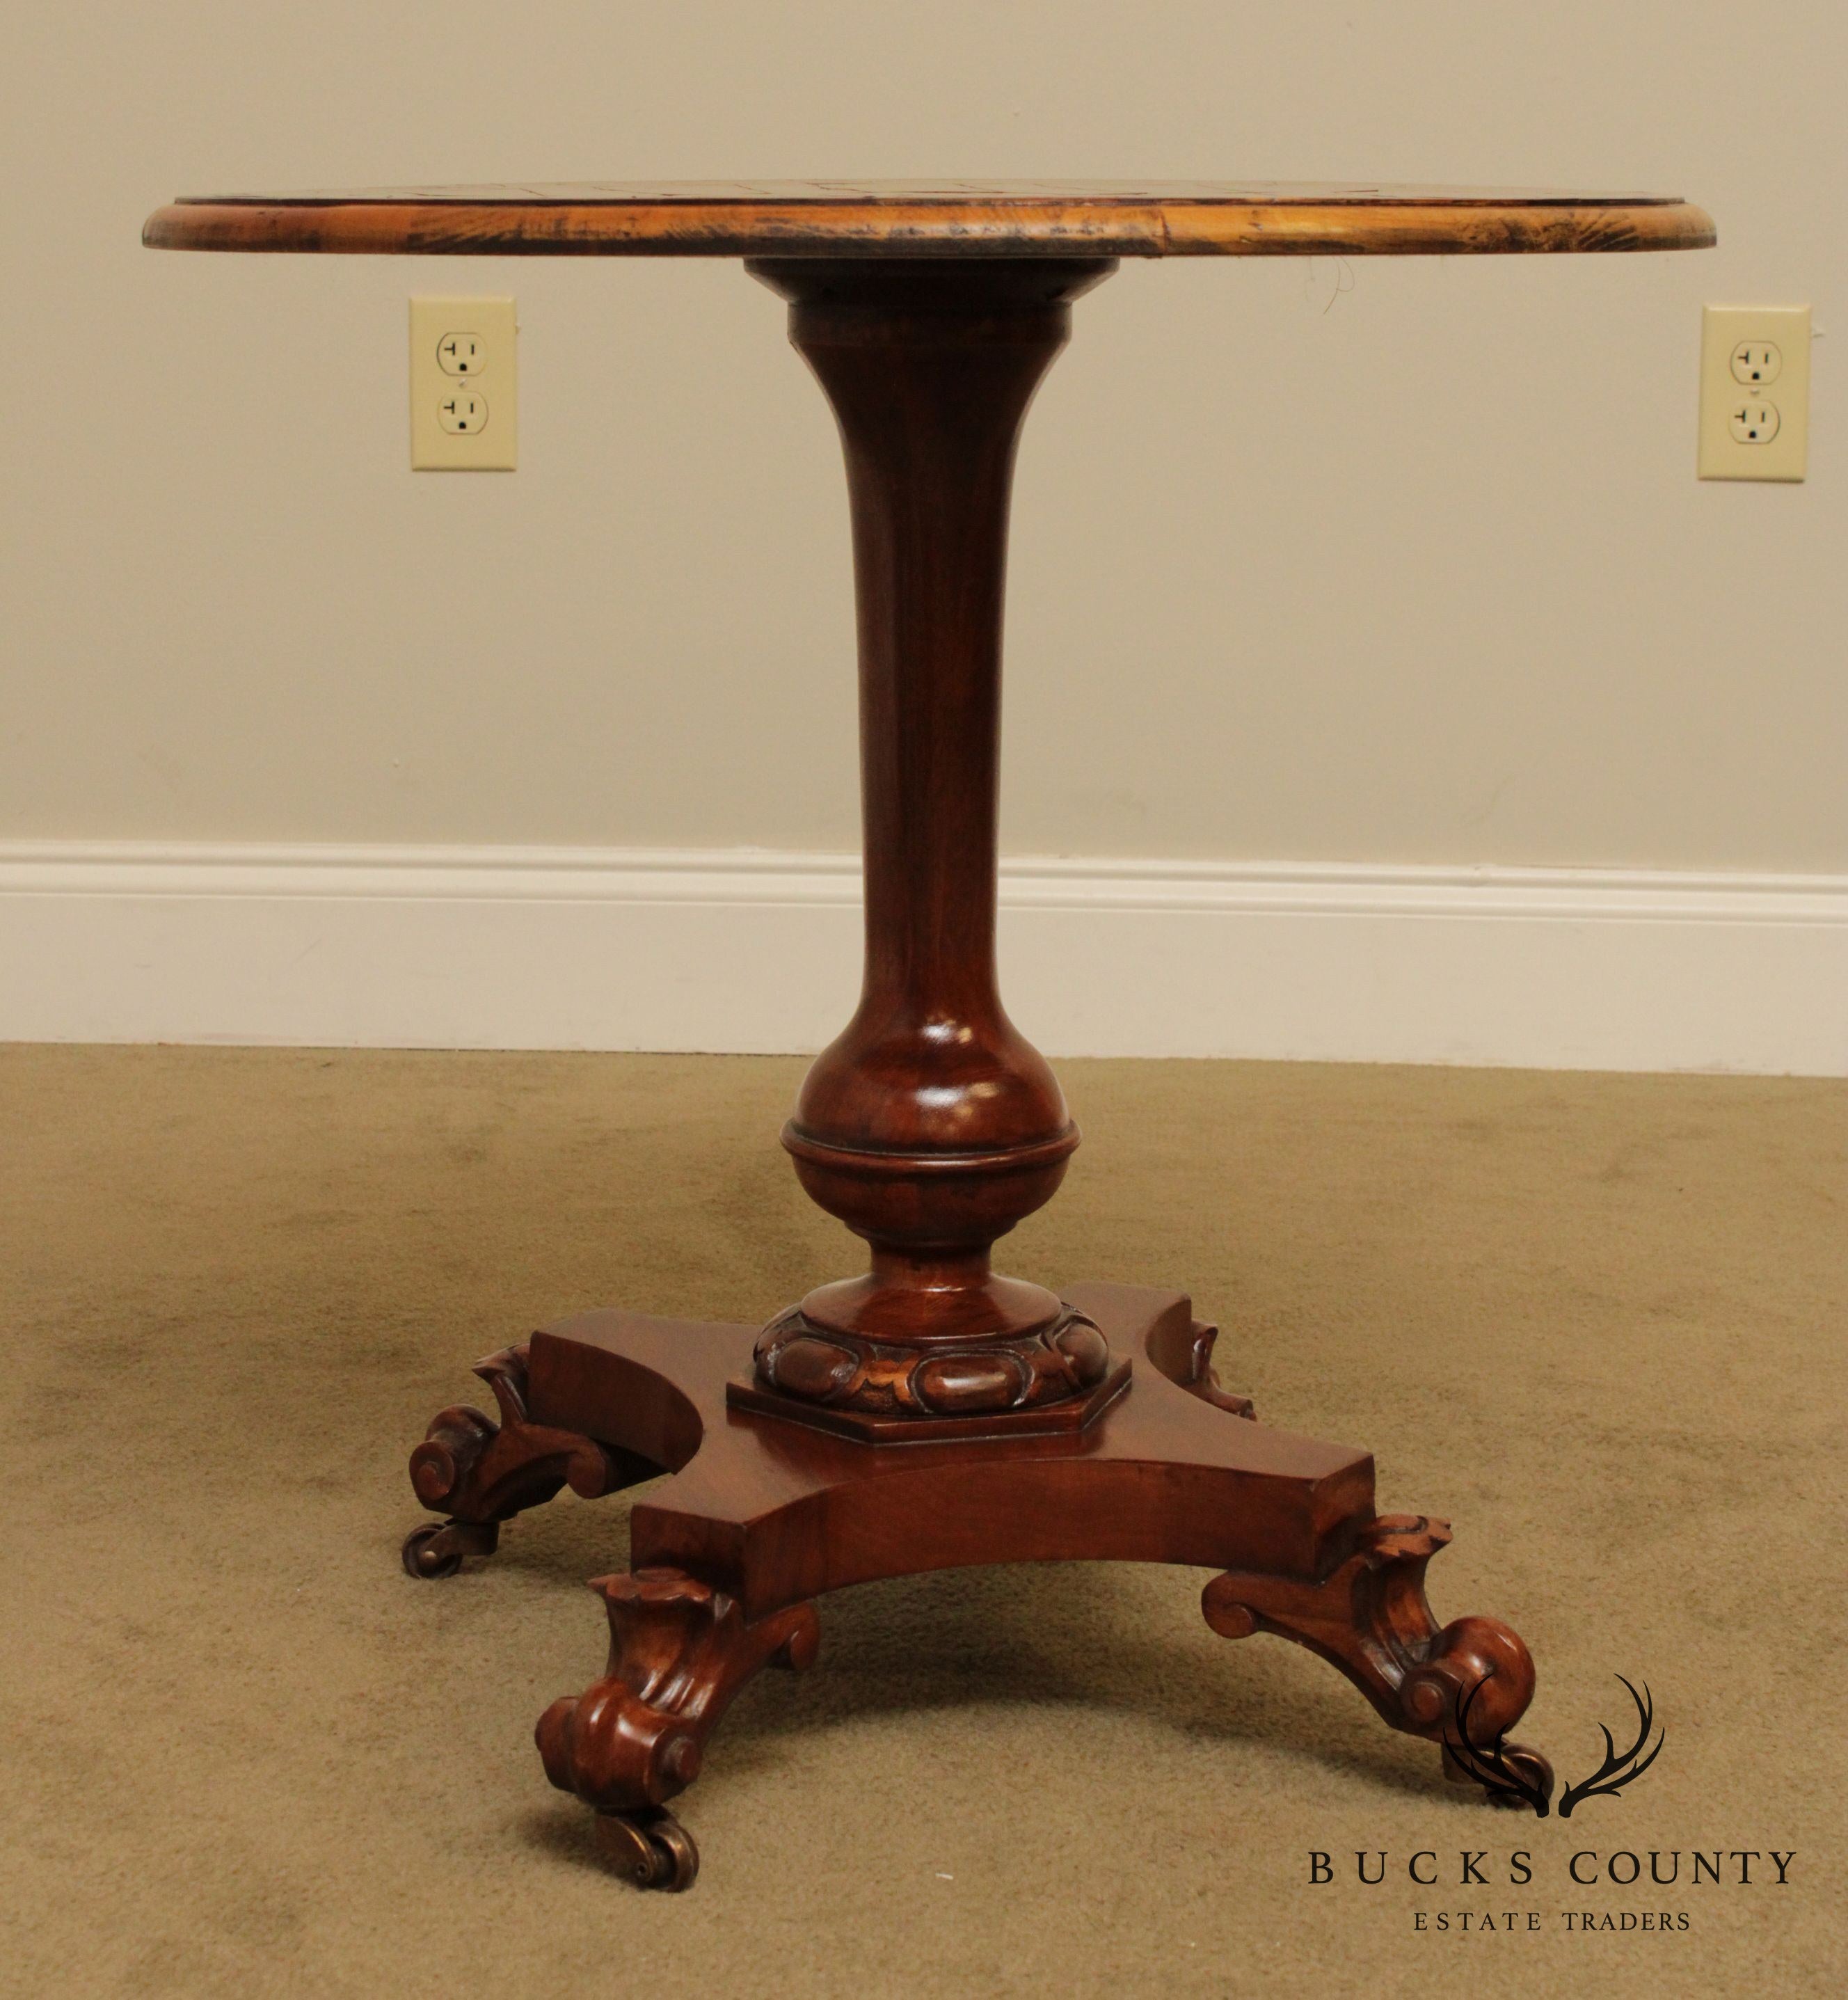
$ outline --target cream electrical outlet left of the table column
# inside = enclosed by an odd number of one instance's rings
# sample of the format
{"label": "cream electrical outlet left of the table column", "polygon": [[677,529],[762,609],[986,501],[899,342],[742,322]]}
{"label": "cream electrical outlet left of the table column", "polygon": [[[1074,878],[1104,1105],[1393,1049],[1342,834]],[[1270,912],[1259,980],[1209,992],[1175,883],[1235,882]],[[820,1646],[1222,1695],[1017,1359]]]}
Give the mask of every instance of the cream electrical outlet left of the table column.
{"label": "cream electrical outlet left of the table column", "polygon": [[512,472],[520,442],[518,328],[510,298],[410,302],[414,472]]}

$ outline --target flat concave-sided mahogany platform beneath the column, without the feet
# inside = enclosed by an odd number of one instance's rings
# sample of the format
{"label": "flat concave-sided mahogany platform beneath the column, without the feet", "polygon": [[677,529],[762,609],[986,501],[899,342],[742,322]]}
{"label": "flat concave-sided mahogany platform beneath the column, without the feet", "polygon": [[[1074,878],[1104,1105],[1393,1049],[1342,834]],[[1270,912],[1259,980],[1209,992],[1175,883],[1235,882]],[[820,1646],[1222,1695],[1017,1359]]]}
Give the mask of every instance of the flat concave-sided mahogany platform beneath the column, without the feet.
{"label": "flat concave-sided mahogany platform beneath the column, without the feet", "polygon": [[[590,1312],[532,1338],[534,1412],[638,1458],[618,1364],[670,1380],[704,1442],[630,1514],[638,1566],[688,1570],[748,1618],[880,1576],[986,1562],[1190,1562],[1318,1576],[1372,1518],[1372,1458],[1240,1420],[1150,1356],[1202,1328],[1180,1292],[1064,1290],[1134,1364],[1122,1398],[1074,1436],[866,1446],[738,1412],[740,1330]],[[748,1342],[746,1342],[748,1348]],[[800,1524],[800,1530],[798,1530]]]}

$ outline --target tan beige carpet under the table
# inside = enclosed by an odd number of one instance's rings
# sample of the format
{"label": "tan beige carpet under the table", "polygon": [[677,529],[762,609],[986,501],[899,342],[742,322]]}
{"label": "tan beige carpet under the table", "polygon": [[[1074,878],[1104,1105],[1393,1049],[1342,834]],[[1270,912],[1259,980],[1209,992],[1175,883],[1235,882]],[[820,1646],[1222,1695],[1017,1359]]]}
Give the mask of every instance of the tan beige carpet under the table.
{"label": "tan beige carpet under the table", "polygon": [[[602,1666],[624,1500],[418,1584],[404,1456],[538,1320],[844,1272],[772,1142],[798,1070],[0,1050],[8,1992],[1832,1988],[1848,1088],[1800,1080],[1072,1062],[1088,1144],[1004,1246],[1190,1286],[1260,1416],[1454,1518],[1438,1616],[1528,1638],[1520,1734],[1568,1776],[1646,1680],[1626,1796],[1464,1802],[1322,1662],[1214,1638],[1202,1572],[956,1572],[822,1600],[818,1668],[746,1690],[690,1896],[604,1876],[530,1730]],[[1574,1888],[1578,1850],[1644,1882]],[[1690,1886],[1692,1850],[1794,1860]]]}

